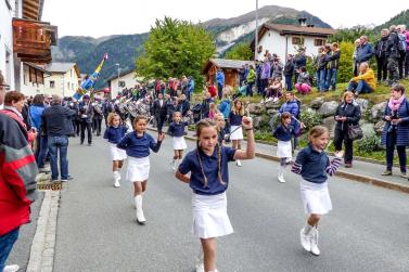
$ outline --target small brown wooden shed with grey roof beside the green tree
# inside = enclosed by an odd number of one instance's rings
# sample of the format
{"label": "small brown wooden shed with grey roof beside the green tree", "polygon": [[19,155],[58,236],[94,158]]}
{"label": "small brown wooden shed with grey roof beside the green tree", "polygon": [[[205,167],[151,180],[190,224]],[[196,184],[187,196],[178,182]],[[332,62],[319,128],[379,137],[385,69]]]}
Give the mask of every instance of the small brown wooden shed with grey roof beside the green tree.
{"label": "small brown wooden shed with grey roof beside the green tree", "polygon": [[215,82],[215,76],[219,68],[225,73],[225,85],[231,87],[239,86],[239,70],[245,65],[254,65],[251,61],[209,59],[202,70],[206,76],[206,82]]}

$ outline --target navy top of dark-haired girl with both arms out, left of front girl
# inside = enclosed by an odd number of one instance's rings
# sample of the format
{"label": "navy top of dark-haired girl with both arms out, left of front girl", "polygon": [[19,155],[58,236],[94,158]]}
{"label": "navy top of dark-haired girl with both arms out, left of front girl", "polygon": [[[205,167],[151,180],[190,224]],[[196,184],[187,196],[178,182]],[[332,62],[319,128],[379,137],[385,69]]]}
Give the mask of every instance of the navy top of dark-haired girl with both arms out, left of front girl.
{"label": "navy top of dark-haired girl with both arms out, left of front girl", "polygon": [[127,155],[136,158],[148,157],[150,148],[153,152],[158,152],[161,148],[162,142],[157,142],[146,132],[142,137],[138,137],[136,131],[129,132],[119,143],[116,145],[120,150],[126,150]]}

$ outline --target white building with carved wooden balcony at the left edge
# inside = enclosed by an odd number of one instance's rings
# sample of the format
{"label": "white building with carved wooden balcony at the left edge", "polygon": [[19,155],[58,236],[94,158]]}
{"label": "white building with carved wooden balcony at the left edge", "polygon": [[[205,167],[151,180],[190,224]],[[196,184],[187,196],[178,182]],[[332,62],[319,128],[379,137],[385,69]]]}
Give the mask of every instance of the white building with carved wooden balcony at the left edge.
{"label": "white building with carved wooden balcony at the left edge", "polygon": [[[31,79],[36,75],[40,82],[43,70],[37,69],[36,64],[51,62],[51,46],[56,46],[57,29],[40,22],[43,4],[44,0],[0,1],[0,70],[11,90],[22,89],[24,70],[30,73],[28,67],[31,67]],[[41,87],[30,88],[35,89],[31,92]]]}

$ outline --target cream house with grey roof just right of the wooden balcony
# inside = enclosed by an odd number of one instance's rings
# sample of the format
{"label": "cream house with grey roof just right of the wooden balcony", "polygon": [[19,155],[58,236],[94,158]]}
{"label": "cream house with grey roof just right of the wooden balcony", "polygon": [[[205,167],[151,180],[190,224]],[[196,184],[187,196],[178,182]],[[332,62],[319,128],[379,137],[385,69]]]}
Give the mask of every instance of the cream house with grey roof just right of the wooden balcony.
{"label": "cream house with grey roof just right of the wooden balcony", "polygon": [[50,75],[44,78],[43,93],[64,98],[74,95],[80,81],[76,63],[50,63],[42,68]]}

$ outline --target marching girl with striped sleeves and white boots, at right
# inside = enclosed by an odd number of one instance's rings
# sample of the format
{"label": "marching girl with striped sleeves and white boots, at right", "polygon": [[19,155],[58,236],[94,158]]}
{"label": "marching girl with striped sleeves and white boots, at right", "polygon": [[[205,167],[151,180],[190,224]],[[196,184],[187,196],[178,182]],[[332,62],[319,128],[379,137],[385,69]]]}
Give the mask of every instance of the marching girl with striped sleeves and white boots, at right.
{"label": "marching girl with striped sleeves and white boots, at right", "polygon": [[328,191],[328,174],[333,176],[341,165],[343,152],[335,153],[330,161],[324,150],[330,133],[325,127],[316,126],[309,131],[309,144],[303,148],[292,167],[292,171],[302,176],[301,195],[305,212],[309,215],[305,226],[299,231],[303,248],[315,256],[320,255],[318,248],[318,222],[322,215],[332,209]]}

